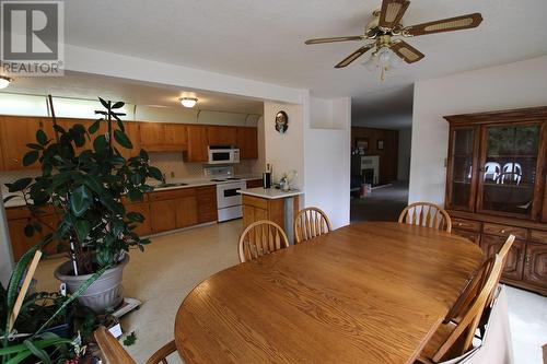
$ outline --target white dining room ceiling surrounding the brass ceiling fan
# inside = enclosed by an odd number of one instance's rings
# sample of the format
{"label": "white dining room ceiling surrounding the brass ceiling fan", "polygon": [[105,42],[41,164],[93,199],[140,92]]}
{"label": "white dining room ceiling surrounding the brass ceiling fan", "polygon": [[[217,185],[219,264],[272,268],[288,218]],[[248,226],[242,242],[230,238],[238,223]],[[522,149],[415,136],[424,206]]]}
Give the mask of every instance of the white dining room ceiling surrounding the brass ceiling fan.
{"label": "white dining room ceiling surrounding the brass ceiling fan", "polygon": [[[358,35],[380,0],[70,0],[69,44],[287,86],[319,97],[352,96],[356,117],[406,113],[411,84],[547,54],[546,0],[414,0],[406,25],[481,12],[476,30],[409,39],[426,58],[385,82],[361,66],[333,68],[359,43],[305,46]],[[410,90],[410,91],[409,91]]]}

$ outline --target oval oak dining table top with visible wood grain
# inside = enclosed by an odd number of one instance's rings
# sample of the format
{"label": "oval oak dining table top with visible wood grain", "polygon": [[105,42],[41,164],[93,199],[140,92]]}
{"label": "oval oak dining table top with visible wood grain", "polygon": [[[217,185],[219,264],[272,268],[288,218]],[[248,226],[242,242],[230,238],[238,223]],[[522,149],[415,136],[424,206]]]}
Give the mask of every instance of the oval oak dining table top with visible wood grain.
{"label": "oval oak dining table top with visible wood grain", "polygon": [[445,232],[349,225],[197,285],[176,315],[190,363],[412,363],[482,262]]}

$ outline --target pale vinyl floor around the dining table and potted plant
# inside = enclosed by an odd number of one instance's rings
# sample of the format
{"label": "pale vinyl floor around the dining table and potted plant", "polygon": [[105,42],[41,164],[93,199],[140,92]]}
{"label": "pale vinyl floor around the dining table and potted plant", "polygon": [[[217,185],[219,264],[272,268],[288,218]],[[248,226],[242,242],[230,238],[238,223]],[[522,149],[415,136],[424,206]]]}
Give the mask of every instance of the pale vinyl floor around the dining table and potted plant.
{"label": "pale vinyl floor around the dining table and potted plant", "polygon": [[[139,310],[123,318],[137,342],[127,350],[137,363],[173,339],[176,312],[191,289],[211,274],[238,263],[242,221],[200,226],[152,238],[143,254],[135,251],[124,272],[126,296],[142,301]],[[43,261],[36,272],[38,289],[57,290],[53,278],[60,259]],[[516,364],[542,364],[547,343],[547,297],[509,290],[510,324]],[[170,363],[182,363],[177,354]]]}

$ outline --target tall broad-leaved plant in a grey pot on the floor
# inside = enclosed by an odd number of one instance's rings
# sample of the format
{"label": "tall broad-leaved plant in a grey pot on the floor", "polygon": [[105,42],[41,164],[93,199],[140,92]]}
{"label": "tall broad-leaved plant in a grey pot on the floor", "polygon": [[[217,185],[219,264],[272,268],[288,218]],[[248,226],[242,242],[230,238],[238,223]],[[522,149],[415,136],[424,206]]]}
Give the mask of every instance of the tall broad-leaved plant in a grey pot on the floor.
{"label": "tall broad-leaved plant in a grey pot on the floor", "polygon": [[[96,312],[114,308],[121,301],[123,269],[129,260],[130,248],[144,249],[148,239],[141,239],[133,228],[144,216],[127,212],[121,198],[141,200],[153,188],[148,178],[162,180],[160,169],[149,164],[148,153],[125,158],[119,148],[132,149],[120,119],[123,102],[112,103],[98,98],[104,110],[88,129],[75,124],[66,130],[57,124],[51,97],[53,138],[37,130],[36,143],[23,157],[24,165],[38,161],[40,175],[7,184],[10,192],[22,193],[34,223],[25,227],[32,235],[46,226],[53,231],[51,240],[68,253],[69,260],[55,275],[75,292],[93,273],[104,270],[78,298],[81,304]],[[101,133],[105,125],[106,132]],[[86,140],[92,149],[84,149]],[[7,199],[10,199],[8,197]],[[58,224],[47,224],[40,214],[51,204]],[[49,243],[48,244],[53,244]]]}

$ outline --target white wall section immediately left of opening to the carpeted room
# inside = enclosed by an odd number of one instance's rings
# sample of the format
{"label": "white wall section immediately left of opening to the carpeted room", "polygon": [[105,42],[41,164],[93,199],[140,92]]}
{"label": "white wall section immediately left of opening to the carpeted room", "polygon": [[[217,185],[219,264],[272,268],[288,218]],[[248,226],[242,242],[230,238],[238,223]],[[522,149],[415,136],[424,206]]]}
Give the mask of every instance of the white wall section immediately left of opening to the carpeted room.
{"label": "white wall section immediately left of opening to the carpeted room", "polygon": [[311,98],[305,128],[305,202],[337,228],[349,224],[351,98]]}

